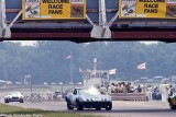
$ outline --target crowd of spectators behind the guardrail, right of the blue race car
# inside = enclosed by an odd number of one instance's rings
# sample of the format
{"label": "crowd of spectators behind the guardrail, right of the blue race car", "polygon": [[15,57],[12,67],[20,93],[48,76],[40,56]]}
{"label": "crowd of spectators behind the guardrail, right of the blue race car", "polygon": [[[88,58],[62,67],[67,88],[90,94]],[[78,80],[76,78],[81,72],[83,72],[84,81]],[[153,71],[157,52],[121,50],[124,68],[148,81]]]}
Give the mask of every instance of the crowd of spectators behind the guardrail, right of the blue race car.
{"label": "crowd of spectators behind the guardrail, right of the blue race car", "polygon": [[100,92],[102,94],[118,94],[118,93],[145,93],[148,100],[162,100],[166,102],[168,96],[176,95],[176,86],[172,84],[154,85],[132,85],[130,82],[111,83],[107,87],[101,85]]}

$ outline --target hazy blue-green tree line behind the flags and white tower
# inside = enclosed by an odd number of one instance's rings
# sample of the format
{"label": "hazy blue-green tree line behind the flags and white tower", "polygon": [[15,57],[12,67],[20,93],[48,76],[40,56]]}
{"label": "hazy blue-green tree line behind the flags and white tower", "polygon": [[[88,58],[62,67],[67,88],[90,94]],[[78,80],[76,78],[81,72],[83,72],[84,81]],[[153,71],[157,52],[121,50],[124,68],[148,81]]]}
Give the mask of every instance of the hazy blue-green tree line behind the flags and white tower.
{"label": "hazy blue-green tree line behind the flags and white tower", "polygon": [[[34,83],[66,83],[72,71],[74,81],[82,82],[79,69],[92,69],[94,58],[98,60],[99,70],[117,69],[117,74],[110,75],[117,80],[136,80],[145,77],[146,70],[148,78],[176,74],[174,43],[40,40],[34,46],[21,46],[20,43],[3,42],[0,43],[0,80],[23,82],[24,77],[31,74]],[[146,70],[138,70],[143,62]]]}

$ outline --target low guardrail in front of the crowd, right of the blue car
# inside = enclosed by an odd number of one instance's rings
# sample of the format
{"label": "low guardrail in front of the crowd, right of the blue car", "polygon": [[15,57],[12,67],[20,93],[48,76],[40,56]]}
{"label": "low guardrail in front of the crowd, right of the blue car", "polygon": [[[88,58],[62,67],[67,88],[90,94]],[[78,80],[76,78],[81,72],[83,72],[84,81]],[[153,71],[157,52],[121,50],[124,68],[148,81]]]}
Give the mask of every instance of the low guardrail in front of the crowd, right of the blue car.
{"label": "low guardrail in front of the crowd, right of the blue car", "polygon": [[110,94],[113,101],[141,101],[147,102],[148,97],[145,93],[113,93]]}

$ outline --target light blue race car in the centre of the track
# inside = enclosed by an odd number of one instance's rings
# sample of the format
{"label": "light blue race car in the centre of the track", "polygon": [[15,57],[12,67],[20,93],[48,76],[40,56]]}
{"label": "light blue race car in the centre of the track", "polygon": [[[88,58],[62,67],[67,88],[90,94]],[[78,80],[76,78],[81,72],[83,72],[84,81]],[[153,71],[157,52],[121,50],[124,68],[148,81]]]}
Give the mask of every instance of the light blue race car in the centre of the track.
{"label": "light blue race car in the centre of the track", "polygon": [[65,96],[67,108],[82,110],[84,108],[96,108],[100,110],[112,109],[112,98],[108,94],[101,94],[96,87],[77,87],[73,93]]}

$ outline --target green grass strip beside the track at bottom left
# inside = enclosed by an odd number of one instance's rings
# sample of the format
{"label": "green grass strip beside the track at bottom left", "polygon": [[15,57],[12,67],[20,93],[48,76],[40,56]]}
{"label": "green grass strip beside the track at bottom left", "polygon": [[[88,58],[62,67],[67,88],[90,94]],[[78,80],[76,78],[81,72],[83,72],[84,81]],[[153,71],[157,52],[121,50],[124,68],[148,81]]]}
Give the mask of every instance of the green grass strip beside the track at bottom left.
{"label": "green grass strip beside the track at bottom left", "polygon": [[95,115],[81,115],[74,112],[52,112],[33,108],[22,108],[18,106],[10,106],[0,104],[0,115],[12,117],[102,117]]}

